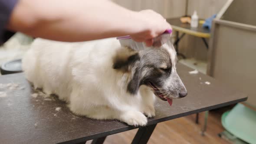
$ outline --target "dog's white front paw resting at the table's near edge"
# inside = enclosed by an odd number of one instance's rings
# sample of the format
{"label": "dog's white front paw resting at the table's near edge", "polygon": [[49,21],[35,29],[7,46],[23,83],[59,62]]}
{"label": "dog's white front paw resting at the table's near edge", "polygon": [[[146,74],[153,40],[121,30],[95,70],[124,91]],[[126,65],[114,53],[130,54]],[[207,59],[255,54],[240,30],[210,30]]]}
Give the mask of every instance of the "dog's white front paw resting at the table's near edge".
{"label": "dog's white front paw resting at the table's near edge", "polygon": [[148,119],[140,111],[126,111],[121,115],[121,121],[128,125],[144,126]]}

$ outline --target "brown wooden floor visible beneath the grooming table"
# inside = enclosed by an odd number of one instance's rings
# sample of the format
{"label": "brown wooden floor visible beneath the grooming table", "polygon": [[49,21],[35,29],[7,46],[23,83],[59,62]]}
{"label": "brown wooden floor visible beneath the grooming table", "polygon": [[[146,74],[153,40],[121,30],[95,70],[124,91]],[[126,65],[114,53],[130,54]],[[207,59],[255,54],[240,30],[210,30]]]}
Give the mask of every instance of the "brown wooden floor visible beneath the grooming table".
{"label": "brown wooden floor visible beneath the grooming table", "polygon": [[[222,108],[210,111],[205,136],[201,135],[203,112],[200,113],[199,124],[195,124],[195,115],[159,123],[154,129],[148,144],[230,144],[217,135],[224,130],[220,118],[226,110],[227,108]],[[137,131],[138,129],[135,129],[110,135],[106,138],[104,144],[131,144]],[[91,141],[87,141],[86,144],[90,143]]]}

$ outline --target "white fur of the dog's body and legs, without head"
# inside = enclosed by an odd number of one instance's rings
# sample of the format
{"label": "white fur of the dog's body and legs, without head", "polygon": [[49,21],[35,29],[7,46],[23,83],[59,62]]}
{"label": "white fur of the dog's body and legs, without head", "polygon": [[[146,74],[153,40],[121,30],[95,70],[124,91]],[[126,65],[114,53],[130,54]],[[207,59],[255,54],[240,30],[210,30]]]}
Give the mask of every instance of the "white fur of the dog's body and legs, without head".
{"label": "white fur of the dog's body and legs, without head", "polygon": [[155,96],[144,85],[137,95],[126,91],[129,74],[112,69],[118,49],[114,38],[81,43],[36,39],[22,67],[35,88],[58,95],[75,114],[145,125],[145,115],[155,115]]}

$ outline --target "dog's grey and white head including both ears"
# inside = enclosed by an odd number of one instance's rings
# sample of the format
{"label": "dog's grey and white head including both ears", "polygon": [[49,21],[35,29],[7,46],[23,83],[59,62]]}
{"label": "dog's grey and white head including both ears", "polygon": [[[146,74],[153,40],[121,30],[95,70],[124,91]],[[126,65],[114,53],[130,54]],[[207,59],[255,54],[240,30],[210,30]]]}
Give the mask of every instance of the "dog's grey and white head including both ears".
{"label": "dog's grey and white head including both ears", "polygon": [[[173,46],[135,52],[129,48],[124,59],[115,59],[113,68],[131,72],[127,91],[136,94],[141,85],[147,85],[162,100],[183,98],[187,90],[176,72],[177,56]],[[122,52],[121,52],[122,53]]]}

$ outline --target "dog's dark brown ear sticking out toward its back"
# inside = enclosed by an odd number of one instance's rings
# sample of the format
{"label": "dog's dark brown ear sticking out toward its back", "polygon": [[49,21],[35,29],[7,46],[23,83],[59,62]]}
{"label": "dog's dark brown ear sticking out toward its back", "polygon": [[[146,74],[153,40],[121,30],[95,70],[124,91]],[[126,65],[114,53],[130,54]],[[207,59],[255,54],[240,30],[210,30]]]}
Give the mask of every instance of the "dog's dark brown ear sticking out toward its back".
{"label": "dog's dark brown ear sticking out toward its back", "polygon": [[116,59],[113,65],[113,69],[122,69],[124,71],[128,71],[128,66],[134,64],[139,59],[140,56],[138,53],[129,56],[128,59]]}

